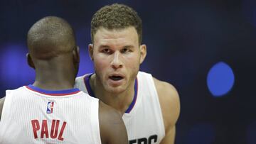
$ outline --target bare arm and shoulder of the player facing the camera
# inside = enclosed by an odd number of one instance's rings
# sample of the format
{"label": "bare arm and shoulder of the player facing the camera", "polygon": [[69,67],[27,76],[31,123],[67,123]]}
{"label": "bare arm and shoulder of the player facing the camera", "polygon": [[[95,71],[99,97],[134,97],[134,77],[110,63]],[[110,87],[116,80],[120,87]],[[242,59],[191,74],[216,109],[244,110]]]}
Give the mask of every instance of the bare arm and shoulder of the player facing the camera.
{"label": "bare arm and shoulder of the player facing the camera", "polygon": [[161,144],[174,144],[176,121],[180,113],[180,101],[178,92],[171,84],[154,79],[156,90],[159,95],[161,111],[164,118],[166,135]]}

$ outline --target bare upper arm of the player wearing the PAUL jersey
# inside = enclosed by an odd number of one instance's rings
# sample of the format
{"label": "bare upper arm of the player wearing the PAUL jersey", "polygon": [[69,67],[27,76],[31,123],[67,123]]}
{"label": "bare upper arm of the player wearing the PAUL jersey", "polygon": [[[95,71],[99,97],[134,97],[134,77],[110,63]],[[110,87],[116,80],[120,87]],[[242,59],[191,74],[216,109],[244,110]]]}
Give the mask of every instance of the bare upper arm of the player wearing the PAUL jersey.
{"label": "bare upper arm of the player wearing the PAUL jersey", "polygon": [[121,114],[100,101],[100,137],[102,144],[128,144]]}

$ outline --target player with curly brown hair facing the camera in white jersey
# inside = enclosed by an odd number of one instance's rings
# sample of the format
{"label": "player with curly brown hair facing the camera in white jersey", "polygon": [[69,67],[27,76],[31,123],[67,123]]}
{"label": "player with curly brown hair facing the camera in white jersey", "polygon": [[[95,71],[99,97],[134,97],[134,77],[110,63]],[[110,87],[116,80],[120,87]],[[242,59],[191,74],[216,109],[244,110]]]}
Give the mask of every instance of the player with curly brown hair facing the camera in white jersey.
{"label": "player with curly brown hair facing the camera in white jersey", "polygon": [[123,115],[129,143],[174,143],[180,112],[176,89],[139,71],[146,57],[142,20],[129,6],[112,4],[91,21],[89,52],[95,73],[75,80],[75,87]]}

